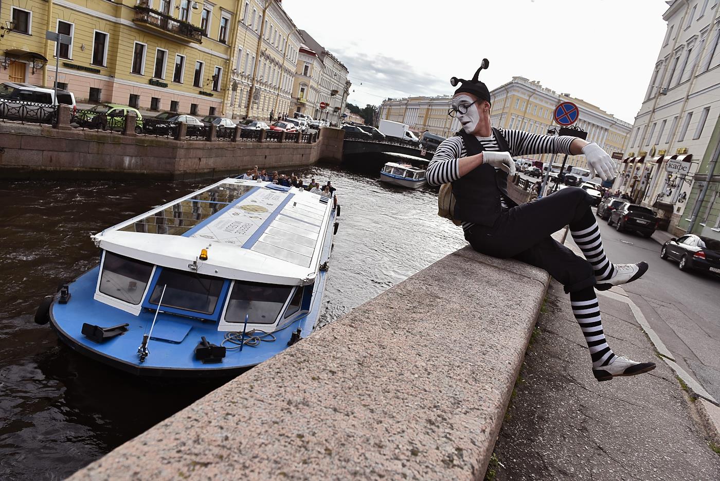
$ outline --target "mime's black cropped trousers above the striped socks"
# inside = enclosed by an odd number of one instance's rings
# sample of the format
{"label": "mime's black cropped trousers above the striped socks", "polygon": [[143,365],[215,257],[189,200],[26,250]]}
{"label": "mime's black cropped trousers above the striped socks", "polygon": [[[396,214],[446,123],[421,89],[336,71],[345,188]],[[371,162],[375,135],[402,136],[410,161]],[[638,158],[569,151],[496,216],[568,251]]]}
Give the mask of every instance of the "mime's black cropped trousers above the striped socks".
{"label": "mime's black cropped trousers above the striped socks", "polygon": [[550,235],[565,225],[575,230],[590,227],[595,222],[591,200],[583,189],[568,187],[510,208],[491,227],[476,224],[465,238],[475,251],[545,269],[565,292],[587,289],[595,285],[593,266]]}

